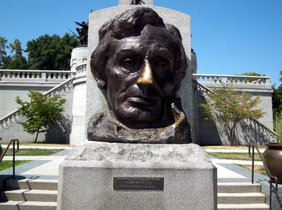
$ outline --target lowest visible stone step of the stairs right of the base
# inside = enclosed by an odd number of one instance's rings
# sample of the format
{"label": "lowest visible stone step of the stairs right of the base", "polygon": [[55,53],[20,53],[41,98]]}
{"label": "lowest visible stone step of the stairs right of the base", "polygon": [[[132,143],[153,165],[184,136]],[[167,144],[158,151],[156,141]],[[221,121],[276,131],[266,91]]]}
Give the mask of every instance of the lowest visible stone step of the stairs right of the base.
{"label": "lowest visible stone step of the stairs right of the base", "polygon": [[267,204],[218,204],[219,210],[269,210]]}

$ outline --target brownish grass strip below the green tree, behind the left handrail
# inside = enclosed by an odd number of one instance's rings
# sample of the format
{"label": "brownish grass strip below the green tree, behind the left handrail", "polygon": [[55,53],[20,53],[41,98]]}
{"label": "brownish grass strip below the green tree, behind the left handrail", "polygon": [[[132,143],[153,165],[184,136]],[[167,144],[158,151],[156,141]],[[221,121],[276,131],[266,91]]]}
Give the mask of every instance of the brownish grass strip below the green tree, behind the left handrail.
{"label": "brownish grass strip below the green tree, behind the left handrail", "polygon": [[[20,151],[16,153],[16,156],[48,156],[61,152],[62,150],[63,149],[20,149]],[[13,150],[8,149],[6,156],[11,155],[13,155]]]}

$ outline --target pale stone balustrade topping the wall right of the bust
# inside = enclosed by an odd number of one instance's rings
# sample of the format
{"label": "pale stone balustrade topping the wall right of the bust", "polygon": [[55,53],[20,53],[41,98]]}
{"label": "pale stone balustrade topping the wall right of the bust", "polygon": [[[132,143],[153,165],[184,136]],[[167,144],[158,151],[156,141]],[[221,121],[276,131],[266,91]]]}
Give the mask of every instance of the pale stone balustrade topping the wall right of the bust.
{"label": "pale stone balustrade topping the wall right of the bust", "polygon": [[193,74],[193,78],[203,83],[233,83],[236,85],[271,85],[270,77],[243,75]]}

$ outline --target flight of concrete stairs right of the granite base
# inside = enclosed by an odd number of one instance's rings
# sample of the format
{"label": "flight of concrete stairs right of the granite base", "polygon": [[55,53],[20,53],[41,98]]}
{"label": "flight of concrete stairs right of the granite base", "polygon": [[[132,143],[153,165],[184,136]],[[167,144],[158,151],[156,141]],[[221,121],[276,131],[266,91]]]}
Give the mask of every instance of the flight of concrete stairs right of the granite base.
{"label": "flight of concrete stairs right of the granite base", "polygon": [[218,183],[218,209],[269,210],[261,185],[252,183]]}

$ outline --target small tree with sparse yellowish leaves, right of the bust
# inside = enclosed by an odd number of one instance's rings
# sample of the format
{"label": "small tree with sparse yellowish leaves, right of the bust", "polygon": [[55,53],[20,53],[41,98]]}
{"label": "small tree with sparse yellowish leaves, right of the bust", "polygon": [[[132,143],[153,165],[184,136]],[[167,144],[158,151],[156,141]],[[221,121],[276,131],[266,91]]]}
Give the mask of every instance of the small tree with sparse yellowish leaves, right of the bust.
{"label": "small tree with sparse yellowish leaves, right of the bust", "polygon": [[207,118],[217,121],[226,132],[231,146],[235,142],[235,130],[238,123],[249,118],[261,118],[261,109],[254,109],[259,104],[260,97],[235,89],[233,84],[223,84],[221,88],[214,88],[207,93],[207,104],[200,104],[204,108]]}

